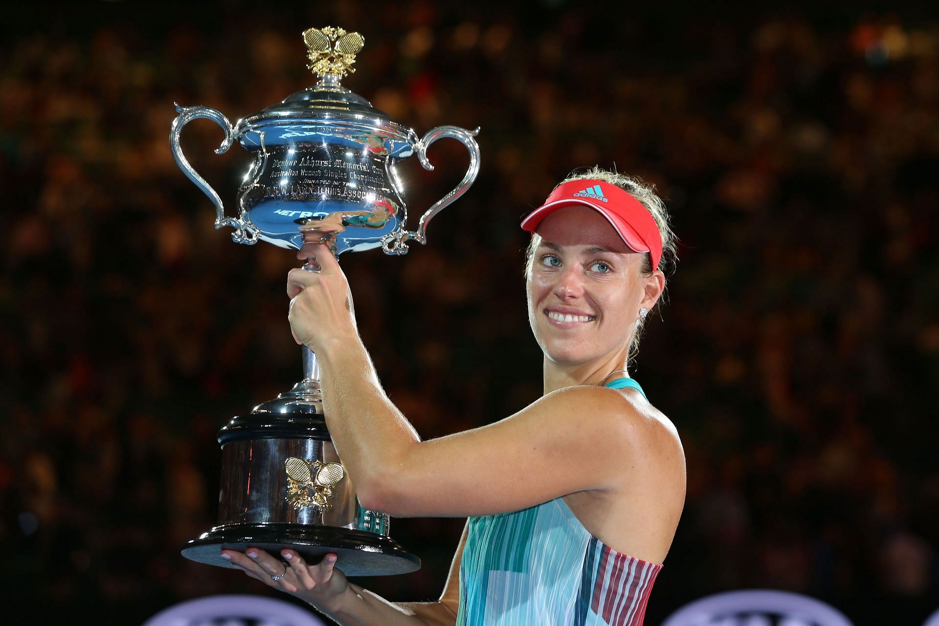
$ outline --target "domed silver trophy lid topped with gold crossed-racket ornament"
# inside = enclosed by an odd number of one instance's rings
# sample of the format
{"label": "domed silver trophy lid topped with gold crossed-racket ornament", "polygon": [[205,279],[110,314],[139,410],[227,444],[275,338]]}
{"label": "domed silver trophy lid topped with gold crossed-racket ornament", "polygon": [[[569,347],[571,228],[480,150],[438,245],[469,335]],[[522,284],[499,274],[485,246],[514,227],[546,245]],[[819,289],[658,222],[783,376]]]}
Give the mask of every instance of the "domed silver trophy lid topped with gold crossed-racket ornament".
{"label": "domed silver trophy lid topped with gold crossed-racket ornament", "polygon": [[287,120],[347,119],[395,130],[403,138],[414,133],[408,126],[339,84],[344,76],[355,71],[352,67],[355,55],[365,44],[362,35],[326,26],[303,31],[303,41],[308,49],[306,67],[316,74],[316,85],[293,93],[253,115],[242,117],[237,127],[248,130]]}

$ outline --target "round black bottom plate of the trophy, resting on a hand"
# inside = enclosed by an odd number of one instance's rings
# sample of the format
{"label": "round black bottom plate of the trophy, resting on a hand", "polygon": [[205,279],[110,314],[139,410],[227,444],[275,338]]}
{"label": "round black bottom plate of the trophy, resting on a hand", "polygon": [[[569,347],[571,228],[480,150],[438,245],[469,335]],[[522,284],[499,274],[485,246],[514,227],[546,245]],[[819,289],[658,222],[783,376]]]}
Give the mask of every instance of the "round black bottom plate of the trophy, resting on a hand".
{"label": "round black bottom plate of the trophy, resting on a hand", "polygon": [[199,539],[189,541],[182,556],[223,568],[237,569],[219,553],[259,548],[281,558],[281,550],[296,550],[315,564],[332,553],[336,567],[346,576],[385,576],[421,569],[421,559],[382,535],[348,528],[301,524],[227,524],[216,526]]}

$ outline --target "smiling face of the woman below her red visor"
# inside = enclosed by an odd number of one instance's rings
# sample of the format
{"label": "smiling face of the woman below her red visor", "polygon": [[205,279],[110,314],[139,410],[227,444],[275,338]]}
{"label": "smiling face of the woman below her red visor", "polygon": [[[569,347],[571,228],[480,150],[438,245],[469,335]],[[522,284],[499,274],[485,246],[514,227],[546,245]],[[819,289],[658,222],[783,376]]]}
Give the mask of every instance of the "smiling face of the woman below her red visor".
{"label": "smiling face of the woman below her red visor", "polygon": [[643,275],[643,254],[588,207],[551,213],[537,233],[542,241],[527,280],[529,322],[546,358],[565,366],[621,354],[624,361],[639,307],[652,308],[664,287],[662,273]]}

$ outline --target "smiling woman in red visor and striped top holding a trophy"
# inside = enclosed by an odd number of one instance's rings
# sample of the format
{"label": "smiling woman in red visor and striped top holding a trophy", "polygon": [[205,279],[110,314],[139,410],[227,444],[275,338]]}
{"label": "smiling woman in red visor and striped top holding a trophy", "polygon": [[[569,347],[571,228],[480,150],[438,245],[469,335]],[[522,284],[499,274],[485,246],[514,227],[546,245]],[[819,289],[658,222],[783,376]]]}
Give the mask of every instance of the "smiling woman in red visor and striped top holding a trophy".
{"label": "smiling woman in red visor and striped top holding a trophy", "polygon": [[223,551],[346,624],[641,624],[685,504],[685,455],[626,371],[674,254],[661,200],[604,170],[564,180],[522,222],[545,394],[500,422],[422,442],[378,383],[346,278],[293,270],[290,324],[319,357],[333,442],[367,509],[468,516],[438,603],[388,603],[308,565]]}

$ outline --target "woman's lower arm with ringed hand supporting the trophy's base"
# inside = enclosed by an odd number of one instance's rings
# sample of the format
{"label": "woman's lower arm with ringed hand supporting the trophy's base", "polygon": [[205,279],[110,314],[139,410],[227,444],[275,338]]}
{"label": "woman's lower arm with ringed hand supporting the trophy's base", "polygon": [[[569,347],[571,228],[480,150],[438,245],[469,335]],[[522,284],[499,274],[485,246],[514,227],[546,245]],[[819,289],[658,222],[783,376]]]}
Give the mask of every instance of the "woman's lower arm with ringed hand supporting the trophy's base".
{"label": "woman's lower arm with ringed hand supporting the trophy's base", "polygon": [[[460,561],[466,540],[465,527],[450,566],[447,584],[436,603],[390,603],[347,582],[343,572],[333,568],[335,559],[328,560],[331,555],[318,565],[308,566],[296,551],[283,550],[281,555],[289,563],[285,568],[281,560],[257,548],[249,548],[247,553],[223,550],[222,554],[252,578],[313,604],[318,611],[342,626],[454,626],[460,600]],[[282,578],[274,582],[271,575],[282,575]]]}

